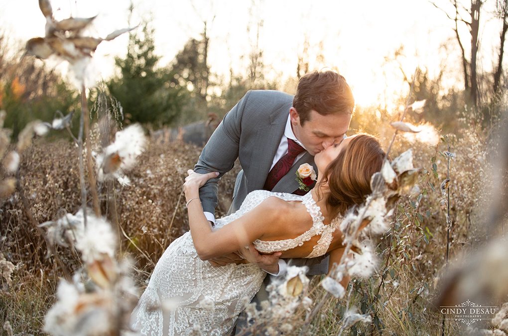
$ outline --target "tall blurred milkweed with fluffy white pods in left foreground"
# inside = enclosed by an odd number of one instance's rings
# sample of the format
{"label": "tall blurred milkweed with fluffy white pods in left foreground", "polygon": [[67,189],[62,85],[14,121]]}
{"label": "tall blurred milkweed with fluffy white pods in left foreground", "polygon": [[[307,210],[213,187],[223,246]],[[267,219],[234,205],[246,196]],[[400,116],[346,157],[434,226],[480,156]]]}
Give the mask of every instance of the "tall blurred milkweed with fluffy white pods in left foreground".
{"label": "tall blurred milkweed with fluffy white pods in left foreground", "polygon": [[[114,31],[104,39],[87,37],[83,36],[82,32],[95,17],[70,17],[56,21],[49,0],[39,0],[39,7],[46,18],[46,36],[30,39],[26,43],[26,54],[35,55],[40,59],[54,56],[68,61],[77,86],[81,90],[79,135],[77,138],[73,136],[78,147],[81,209],[75,215],[63,215],[55,221],[41,224],[40,227],[47,228],[46,241],[50,249],[48,255],[58,258],[56,246],[76,249],[81,253],[84,266],[72,276],[72,280],[66,272],[67,279],[60,281],[56,294],[57,302],[46,315],[45,331],[55,335],[120,334],[120,330],[127,328],[137,291],[129,275],[130,262],[116,261],[117,239],[111,224],[101,217],[96,174],[99,173],[101,180],[104,176],[115,175],[120,183],[124,181],[122,184],[128,184],[128,179],[123,175],[124,170],[136,163],[136,158],[144,150],[146,140],[139,125],[132,125],[117,132],[115,142],[97,155],[96,172],[92,162],[86,86],[93,85],[94,79],[89,64],[92,53],[98,45],[102,41],[113,40],[133,28]],[[30,127],[27,126],[20,134],[18,150],[21,151],[30,145],[34,132],[43,134],[49,129],[69,130],[71,118],[72,113],[66,117],[61,116],[52,123],[34,122],[29,125]],[[83,138],[86,141],[86,150],[83,150]],[[87,214],[89,210],[84,153],[93,215]],[[15,155],[11,161],[16,161]],[[9,163],[8,167],[15,170],[15,165],[17,164]]]}

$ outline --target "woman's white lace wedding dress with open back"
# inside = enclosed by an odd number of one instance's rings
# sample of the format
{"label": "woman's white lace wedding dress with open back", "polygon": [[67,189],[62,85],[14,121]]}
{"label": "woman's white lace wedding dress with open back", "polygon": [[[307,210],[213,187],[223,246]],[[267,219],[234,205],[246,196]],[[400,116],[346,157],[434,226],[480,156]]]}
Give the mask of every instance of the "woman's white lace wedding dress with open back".
{"label": "woman's white lace wedding dress with open back", "polygon": [[[285,251],[303,245],[321,234],[307,258],[326,253],[332,241],[335,222],[324,225],[324,217],[310,192],[305,196],[266,190],[250,192],[240,209],[218,219],[220,228],[255,208],[269,196],[301,200],[312,217],[312,227],[295,239],[253,242],[263,253]],[[213,242],[210,242],[213,244]],[[148,286],[132,315],[132,327],[143,335],[186,335],[201,331],[204,335],[227,335],[238,314],[258,292],[266,273],[255,264],[228,264],[212,267],[202,261],[190,232],[176,239],[158,260]]]}

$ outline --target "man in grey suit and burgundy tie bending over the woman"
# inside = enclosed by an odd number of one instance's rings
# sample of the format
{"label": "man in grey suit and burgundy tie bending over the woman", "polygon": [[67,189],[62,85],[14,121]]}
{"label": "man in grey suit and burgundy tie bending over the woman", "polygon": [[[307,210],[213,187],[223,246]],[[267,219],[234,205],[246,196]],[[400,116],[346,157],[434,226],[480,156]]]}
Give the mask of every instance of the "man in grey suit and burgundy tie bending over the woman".
{"label": "man in grey suit and burgundy tie bending over the woman", "polygon": [[[242,167],[236,178],[233,203],[229,213],[235,212],[245,196],[253,190],[303,194],[296,171],[309,163],[317,171],[313,156],[333,144],[340,143],[349,128],[354,110],[351,88],[344,77],[332,71],[314,72],[303,76],[295,96],[272,90],[248,91],[226,114],[203,148],[194,171],[219,172],[200,189],[200,199],[207,219],[214,223],[217,206],[217,183],[233,168],[238,158]],[[294,145],[296,143],[296,145]],[[297,146],[289,153],[289,146]],[[292,154],[290,158],[288,155]],[[284,158],[285,156],[285,158]],[[281,172],[279,160],[293,162]],[[274,170],[276,172],[274,172]],[[274,180],[275,179],[275,180]],[[310,188],[313,186],[311,185]],[[252,223],[256,225],[256,223]],[[252,249],[249,249],[252,250]],[[277,254],[251,253],[249,261],[257,263],[272,275],[282,275],[285,262]],[[242,257],[233,253],[213,259],[212,265],[238,262]],[[310,266],[309,274],[328,271],[327,262],[306,259],[295,264]]]}

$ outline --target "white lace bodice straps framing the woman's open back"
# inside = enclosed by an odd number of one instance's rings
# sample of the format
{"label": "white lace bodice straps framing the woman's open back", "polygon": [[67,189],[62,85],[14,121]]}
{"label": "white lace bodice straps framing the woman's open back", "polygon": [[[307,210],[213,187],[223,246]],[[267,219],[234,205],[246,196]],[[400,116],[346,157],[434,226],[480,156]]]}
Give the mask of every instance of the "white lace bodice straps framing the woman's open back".
{"label": "white lace bodice straps framing the woman's open back", "polygon": [[321,235],[320,240],[316,245],[314,245],[312,252],[305,258],[315,258],[325,254],[330,247],[330,243],[332,242],[333,232],[338,227],[338,220],[332,221],[330,225],[325,225],[323,223],[325,218],[321,213],[321,209],[312,199],[310,192],[304,196],[299,196],[289,193],[271,192],[266,190],[252,191],[247,195],[247,197],[245,197],[245,200],[243,201],[240,209],[238,209],[238,211],[234,214],[220,219],[218,223],[216,223],[216,227],[221,227],[241,217],[270,196],[275,196],[287,201],[301,201],[305,208],[307,208],[307,212],[312,218],[312,226],[307,231],[300,234],[300,236],[293,239],[284,239],[277,241],[262,241],[258,239],[252,243],[254,247],[262,253],[286,251],[297,246],[302,246],[303,243],[309,241],[312,237]]}

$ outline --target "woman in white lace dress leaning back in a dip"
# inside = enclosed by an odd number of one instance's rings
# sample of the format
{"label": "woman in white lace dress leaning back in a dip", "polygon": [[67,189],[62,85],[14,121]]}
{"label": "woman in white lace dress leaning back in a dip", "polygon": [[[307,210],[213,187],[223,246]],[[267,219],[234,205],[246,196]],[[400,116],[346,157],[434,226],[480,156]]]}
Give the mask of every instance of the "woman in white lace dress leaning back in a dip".
{"label": "woman in white lace dress leaning back in a dip", "polygon": [[[266,190],[250,192],[240,209],[212,228],[199,201],[199,187],[215,173],[189,171],[185,182],[190,232],[176,239],[157,262],[132,315],[143,335],[185,335],[195,327],[206,335],[230,334],[238,314],[258,292],[266,273],[256,264],[212,267],[206,260],[253,244],[281,258],[342,255],[337,228],[348,207],[370,193],[370,177],[384,152],[370,136],[350,137],[314,157],[316,187],[304,196]],[[343,280],[345,286],[348,279]]]}

